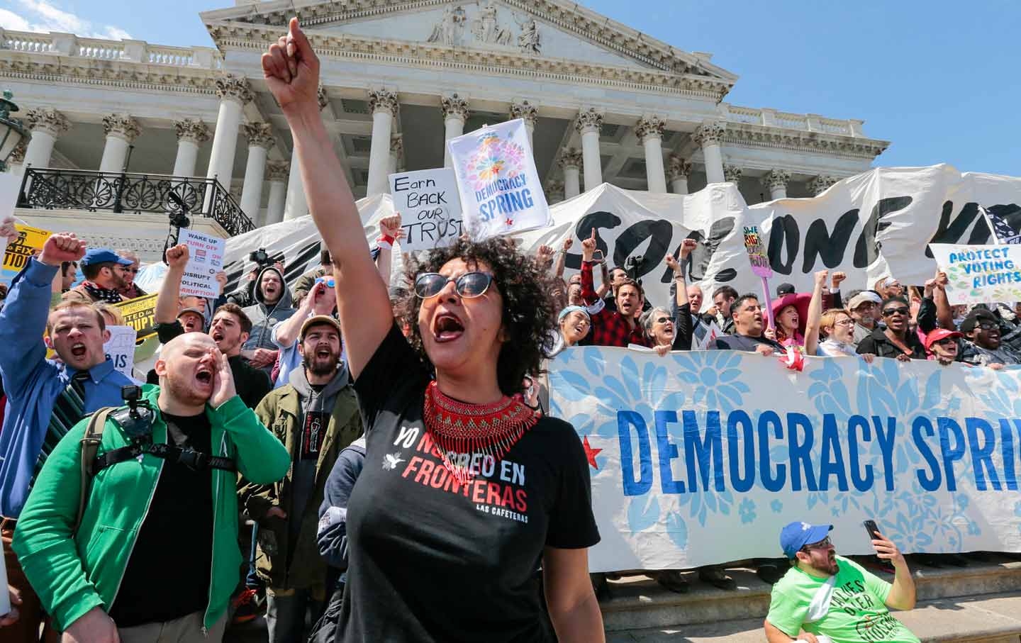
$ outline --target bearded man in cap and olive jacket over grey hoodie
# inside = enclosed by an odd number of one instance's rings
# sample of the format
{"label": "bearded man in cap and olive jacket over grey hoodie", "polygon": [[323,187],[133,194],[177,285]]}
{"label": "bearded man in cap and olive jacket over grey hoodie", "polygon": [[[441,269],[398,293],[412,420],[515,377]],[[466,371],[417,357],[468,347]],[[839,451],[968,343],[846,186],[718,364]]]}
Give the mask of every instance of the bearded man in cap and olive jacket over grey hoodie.
{"label": "bearded man in cap and olive jacket over grey hoodie", "polygon": [[328,315],[309,317],[298,341],[303,367],[291,370],[290,383],[255,409],[290,452],[291,473],[277,484],[248,484],[239,492],[259,525],[257,570],[266,584],[270,643],[306,640],[306,612],[315,623],[326,606],[319,507],[337,454],[361,435],[357,400],[340,360],[340,324]]}

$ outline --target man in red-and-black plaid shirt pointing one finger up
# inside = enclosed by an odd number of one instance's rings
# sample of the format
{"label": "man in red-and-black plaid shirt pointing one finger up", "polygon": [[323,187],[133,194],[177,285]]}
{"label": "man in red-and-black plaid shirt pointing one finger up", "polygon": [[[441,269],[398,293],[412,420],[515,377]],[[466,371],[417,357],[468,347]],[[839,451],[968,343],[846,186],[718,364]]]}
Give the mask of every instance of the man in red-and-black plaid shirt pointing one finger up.
{"label": "man in red-and-black plaid shirt pointing one finger up", "polygon": [[[595,252],[595,229],[592,236],[581,242],[581,296],[589,305],[598,301],[592,282],[592,254]],[[641,285],[632,279],[626,279],[617,289],[617,310],[603,308],[592,312],[592,345],[623,346],[638,344],[648,346],[649,341],[635,318],[641,312],[644,303],[644,293]]]}

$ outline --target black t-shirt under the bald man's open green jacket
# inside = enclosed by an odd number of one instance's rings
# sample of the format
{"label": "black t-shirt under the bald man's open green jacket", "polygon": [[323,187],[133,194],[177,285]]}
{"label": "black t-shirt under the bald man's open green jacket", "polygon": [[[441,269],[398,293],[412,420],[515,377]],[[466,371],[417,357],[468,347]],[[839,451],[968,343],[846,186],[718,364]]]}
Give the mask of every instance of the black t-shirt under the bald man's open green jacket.
{"label": "black t-shirt under the bald man's open green jacket", "polygon": [[[205,413],[163,413],[167,444],[212,452]],[[134,460],[112,466],[128,466]],[[110,498],[110,502],[116,502]],[[109,610],[118,628],[204,612],[212,568],[212,469],[163,460],[124,580]]]}

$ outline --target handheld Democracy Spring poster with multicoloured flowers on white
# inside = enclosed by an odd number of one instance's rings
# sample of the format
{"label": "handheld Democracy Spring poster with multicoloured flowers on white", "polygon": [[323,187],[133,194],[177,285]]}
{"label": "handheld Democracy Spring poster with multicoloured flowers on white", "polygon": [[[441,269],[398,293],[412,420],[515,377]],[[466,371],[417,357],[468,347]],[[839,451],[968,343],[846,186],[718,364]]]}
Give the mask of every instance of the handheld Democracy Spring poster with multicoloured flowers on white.
{"label": "handheld Democracy Spring poster with multicoloured flowers on white", "polygon": [[450,139],[465,227],[476,239],[545,228],[549,207],[522,118]]}

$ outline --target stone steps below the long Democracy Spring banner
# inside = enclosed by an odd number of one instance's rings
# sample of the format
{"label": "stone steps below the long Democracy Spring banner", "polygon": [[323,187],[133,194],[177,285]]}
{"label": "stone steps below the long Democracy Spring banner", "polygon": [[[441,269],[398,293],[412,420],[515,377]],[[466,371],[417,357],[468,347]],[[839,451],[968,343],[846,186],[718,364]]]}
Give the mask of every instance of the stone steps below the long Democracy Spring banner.
{"label": "stone steps below the long Democracy Spring banner", "polygon": [[[926,642],[1021,643],[1021,562],[994,554],[988,558],[938,570],[910,560],[918,605],[895,612],[896,617]],[[607,643],[765,641],[770,586],[750,570],[728,574],[737,582],[734,591],[700,583],[694,573],[687,594],[670,592],[645,577],[611,582],[612,597],[600,602]]]}

